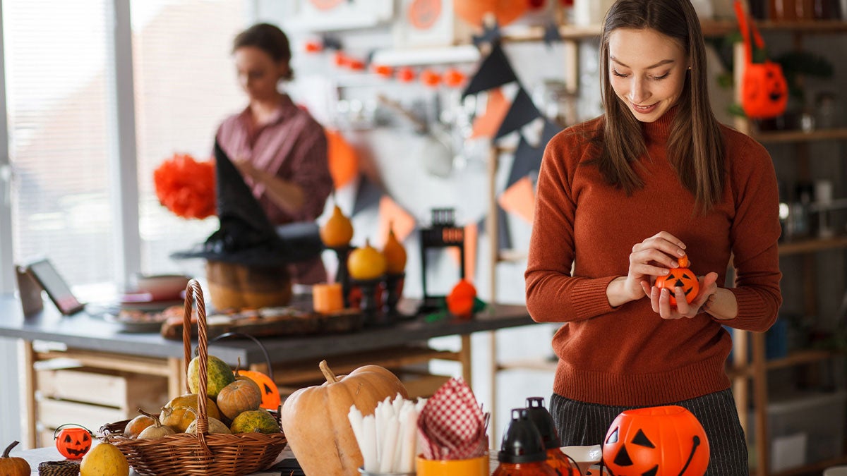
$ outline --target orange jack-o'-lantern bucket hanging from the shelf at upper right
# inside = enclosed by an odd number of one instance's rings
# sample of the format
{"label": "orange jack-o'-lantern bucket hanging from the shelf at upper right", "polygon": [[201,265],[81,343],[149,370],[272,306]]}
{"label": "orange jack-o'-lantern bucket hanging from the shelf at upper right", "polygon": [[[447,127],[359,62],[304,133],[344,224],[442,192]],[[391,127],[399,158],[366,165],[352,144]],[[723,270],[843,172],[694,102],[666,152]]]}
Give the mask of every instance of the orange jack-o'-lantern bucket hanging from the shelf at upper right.
{"label": "orange jack-o'-lantern bucket hanging from the shelf at upper right", "polygon": [[788,83],[777,63],[747,64],[741,89],[741,106],[751,118],[767,119],[785,112]]}

